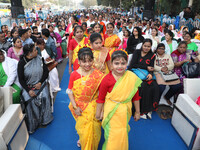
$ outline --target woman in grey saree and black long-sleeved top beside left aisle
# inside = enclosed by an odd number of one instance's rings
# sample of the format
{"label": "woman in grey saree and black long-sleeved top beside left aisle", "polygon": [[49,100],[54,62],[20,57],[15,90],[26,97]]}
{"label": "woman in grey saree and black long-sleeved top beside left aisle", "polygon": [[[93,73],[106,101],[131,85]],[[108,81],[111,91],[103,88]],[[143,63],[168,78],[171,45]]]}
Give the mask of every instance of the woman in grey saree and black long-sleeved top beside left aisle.
{"label": "woman in grey saree and black long-sleeved top beside left aisle", "polygon": [[46,84],[48,68],[44,60],[37,55],[34,44],[24,45],[24,54],[18,63],[19,82],[22,86],[22,98],[25,104],[26,125],[33,133],[40,125],[53,120],[49,90]]}

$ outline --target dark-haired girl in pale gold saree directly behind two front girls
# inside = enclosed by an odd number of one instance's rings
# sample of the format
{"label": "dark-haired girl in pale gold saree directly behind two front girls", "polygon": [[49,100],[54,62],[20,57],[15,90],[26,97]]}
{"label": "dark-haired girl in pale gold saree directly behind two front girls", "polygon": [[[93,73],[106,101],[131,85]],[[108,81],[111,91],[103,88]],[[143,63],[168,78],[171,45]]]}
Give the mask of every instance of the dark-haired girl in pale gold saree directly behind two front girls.
{"label": "dark-haired girl in pale gold saree directly behind two front girls", "polygon": [[99,33],[93,33],[90,36],[90,44],[94,55],[94,68],[104,74],[111,70],[110,55],[108,49],[102,47],[102,36]]}

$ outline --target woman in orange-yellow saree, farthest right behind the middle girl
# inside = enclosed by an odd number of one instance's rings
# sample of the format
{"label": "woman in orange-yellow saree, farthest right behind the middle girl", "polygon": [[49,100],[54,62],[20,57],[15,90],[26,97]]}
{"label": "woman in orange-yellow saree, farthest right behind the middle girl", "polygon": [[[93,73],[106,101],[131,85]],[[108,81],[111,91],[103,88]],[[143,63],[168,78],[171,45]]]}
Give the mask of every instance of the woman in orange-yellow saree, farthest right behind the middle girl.
{"label": "woman in orange-yellow saree, farthest right behind the middle girl", "polygon": [[120,38],[113,33],[114,27],[115,27],[114,24],[108,23],[107,34],[104,35],[104,40],[105,40],[104,47],[109,49],[110,56],[112,55],[114,50],[116,50],[121,44]]}

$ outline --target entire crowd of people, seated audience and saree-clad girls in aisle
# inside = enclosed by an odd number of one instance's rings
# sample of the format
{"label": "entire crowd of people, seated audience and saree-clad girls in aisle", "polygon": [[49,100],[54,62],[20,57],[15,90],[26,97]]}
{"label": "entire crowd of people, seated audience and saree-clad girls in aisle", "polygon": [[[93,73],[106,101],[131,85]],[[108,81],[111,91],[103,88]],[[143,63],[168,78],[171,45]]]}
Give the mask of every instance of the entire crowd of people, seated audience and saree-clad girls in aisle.
{"label": "entire crowd of people, seated audience and saree-clad girls in aisle", "polygon": [[[53,120],[56,66],[69,60],[69,109],[81,149],[128,149],[133,115],[153,119],[161,96],[168,105],[183,92],[184,66],[199,63],[199,29],[160,24],[118,13],[84,10],[1,26],[0,86],[12,86],[13,103],[25,106],[29,133]],[[64,68],[63,68],[64,69]],[[196,68],[199,69],[199,68]],[[176,75],[170,81],[164,76]],[[199,77],[195,74],[192,77]],[[190,76],[191,77],[191,76]],[[172,97],[174,101],[170,100]],[[167,112],[161,112],[167,119]]]}

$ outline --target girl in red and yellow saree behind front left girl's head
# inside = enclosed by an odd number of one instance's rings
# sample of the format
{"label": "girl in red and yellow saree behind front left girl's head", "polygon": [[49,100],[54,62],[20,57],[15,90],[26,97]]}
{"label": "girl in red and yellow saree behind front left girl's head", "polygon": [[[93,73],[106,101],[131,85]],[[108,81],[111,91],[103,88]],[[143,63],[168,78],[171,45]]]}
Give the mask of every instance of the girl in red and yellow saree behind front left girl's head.
{"label": "girl in red and yellow saree behind front left girl's head", "polygon": [[69,73],[73,70],[77,70],[79,68],[78,64],[78,51],[80,47],[83,47],[85,44],[88,44],[88,38],[83,36],[83,27],[76,26],[74,28],[74,38],[70,40],[69,44]]}

